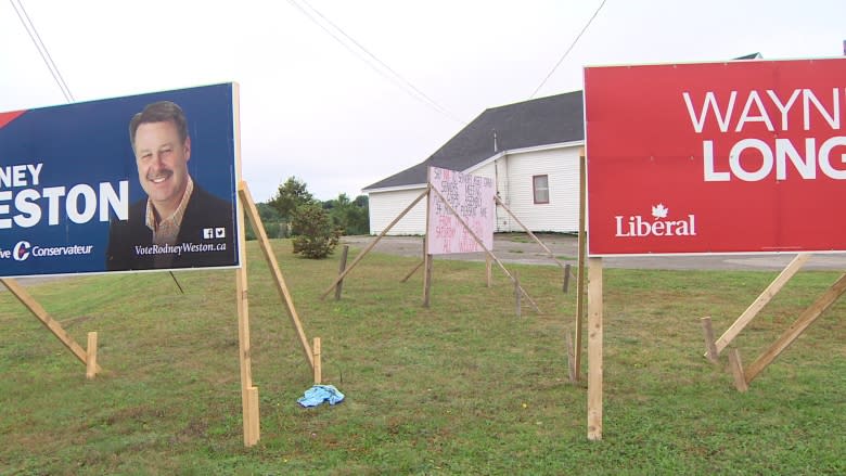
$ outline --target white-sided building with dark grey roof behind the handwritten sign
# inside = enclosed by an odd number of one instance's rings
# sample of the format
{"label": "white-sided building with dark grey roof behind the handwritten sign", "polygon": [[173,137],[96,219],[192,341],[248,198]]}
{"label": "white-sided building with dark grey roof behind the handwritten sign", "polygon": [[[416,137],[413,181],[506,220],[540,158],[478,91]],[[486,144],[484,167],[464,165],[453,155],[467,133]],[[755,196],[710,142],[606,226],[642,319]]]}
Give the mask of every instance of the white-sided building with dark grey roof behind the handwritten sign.
{"label": "white-sided building with dark grey roof behind the handwritten sign", "polygon": [[[486,110],[426,160],[363,189],[370,232],[382,233],[425,191],[430,166],[490,177],[505,206],[531,231],[577,232],[582,93],[574,91]],[[388,234],[425,234],[420,201]],[[496,231],[523,231],[497,207]]]}

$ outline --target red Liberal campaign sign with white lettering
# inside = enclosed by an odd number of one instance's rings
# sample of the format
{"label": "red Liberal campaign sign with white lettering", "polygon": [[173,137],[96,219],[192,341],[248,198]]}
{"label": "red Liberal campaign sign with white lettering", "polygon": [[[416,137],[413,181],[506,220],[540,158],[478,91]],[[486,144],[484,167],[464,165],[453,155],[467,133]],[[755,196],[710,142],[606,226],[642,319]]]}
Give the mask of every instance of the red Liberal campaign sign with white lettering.
{"label": "red Liberal campaign sign with white lettering", "polygon": [[585,69],[592,256],[846,250],[846,59]]}

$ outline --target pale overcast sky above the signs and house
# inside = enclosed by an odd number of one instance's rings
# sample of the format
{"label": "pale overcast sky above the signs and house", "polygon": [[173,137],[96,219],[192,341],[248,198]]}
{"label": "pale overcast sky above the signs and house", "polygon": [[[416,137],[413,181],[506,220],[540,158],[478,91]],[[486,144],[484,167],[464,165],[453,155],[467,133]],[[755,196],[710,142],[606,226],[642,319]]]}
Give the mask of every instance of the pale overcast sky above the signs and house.
{"label": "pale overcast sky above the signs and house", "polygon": [[[0,112],[66,103],[13,2]],[[831,57],[846,39],[844,0],[20,2],[76,101],[238,81],[258,202],[291,176],[354,198],[485,108],[580,90],[586,65]]]}

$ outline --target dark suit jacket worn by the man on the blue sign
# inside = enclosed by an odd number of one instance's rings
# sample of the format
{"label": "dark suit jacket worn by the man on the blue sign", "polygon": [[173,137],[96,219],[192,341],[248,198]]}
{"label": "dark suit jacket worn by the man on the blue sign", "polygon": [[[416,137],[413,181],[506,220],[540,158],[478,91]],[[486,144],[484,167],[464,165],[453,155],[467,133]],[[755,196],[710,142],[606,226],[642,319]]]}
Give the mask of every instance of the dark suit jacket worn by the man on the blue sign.
{"label": "dark suit jacket worn by the man on the blue sign", "polygon": [[[107,270],[156,268],[156,255],[150,253],[153,249],[153,231],[145,223],[145,213],[146,198],[129,207],[129,220],[112,220],[106,248]],[[175,245],[182,252],[174,255],[169,268],[234,266],[238,261],[236,243],[232,205],[194,182]]]}

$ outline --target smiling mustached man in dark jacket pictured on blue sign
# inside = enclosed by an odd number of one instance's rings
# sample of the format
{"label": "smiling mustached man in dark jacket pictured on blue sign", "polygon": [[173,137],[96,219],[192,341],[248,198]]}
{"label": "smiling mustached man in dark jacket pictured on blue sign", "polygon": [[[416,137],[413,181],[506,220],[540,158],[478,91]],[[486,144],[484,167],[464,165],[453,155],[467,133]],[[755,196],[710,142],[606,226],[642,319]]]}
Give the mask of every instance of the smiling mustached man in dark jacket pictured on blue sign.
{"label": "smiling mustached man in dark jacket pictured on blue sign", "polygon": [[146,105],[131,118],[129,140],[146,196],[130,205],[127,220],[112,220],[106,269],[234,265],[232,204],[189,173],[192,144],[182,108],[170,101]]}

